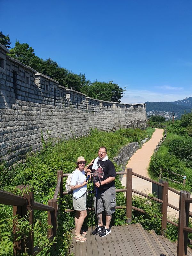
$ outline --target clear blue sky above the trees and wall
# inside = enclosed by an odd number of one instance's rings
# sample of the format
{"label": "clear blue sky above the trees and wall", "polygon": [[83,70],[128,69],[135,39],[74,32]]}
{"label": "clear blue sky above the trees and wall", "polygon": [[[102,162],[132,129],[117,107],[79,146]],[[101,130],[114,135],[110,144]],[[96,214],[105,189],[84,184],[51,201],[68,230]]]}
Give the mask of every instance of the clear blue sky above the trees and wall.
{"label": "clear blue sky above the trees and wall", "polygon": [[92,82],[125,87],[123,103],[192,96],[191,0],[0,0],[0,30]]}

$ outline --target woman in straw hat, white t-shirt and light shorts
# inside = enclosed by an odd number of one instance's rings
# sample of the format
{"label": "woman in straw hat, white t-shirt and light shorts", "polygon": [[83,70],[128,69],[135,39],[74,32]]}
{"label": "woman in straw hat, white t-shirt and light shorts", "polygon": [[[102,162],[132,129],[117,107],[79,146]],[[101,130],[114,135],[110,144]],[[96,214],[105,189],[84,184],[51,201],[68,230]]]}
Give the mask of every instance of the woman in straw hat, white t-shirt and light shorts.
{"label": "woman in straw hat, white t-shirt and light shorts", "polygon": [[[87,238],[86,232],[82,231],[84,219],[87,216],[87,182],[85,176],[86,161],[83,156],[79,156],[76,161],[76,170],[72,173],[71,189],[73,190],[73,207],[76,210],[75,214],[75,241],[85,242]],[[81,235],[82,234],[82,235]]]}

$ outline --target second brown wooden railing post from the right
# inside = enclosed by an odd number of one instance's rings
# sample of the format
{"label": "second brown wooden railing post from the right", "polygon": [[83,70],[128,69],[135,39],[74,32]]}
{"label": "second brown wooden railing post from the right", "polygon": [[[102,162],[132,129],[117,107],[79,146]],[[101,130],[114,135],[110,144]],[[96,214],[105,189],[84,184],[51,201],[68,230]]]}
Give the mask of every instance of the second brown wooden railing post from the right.
{"label": "second brown wooden railing post from the right", "polygon": [[167,229],[167,207],[168,207],[168,192],[169,192],[169,183],[163,181],[163,191],[162,191],[162,226],[161,226],[161,235],[164,235],[164,231]]}

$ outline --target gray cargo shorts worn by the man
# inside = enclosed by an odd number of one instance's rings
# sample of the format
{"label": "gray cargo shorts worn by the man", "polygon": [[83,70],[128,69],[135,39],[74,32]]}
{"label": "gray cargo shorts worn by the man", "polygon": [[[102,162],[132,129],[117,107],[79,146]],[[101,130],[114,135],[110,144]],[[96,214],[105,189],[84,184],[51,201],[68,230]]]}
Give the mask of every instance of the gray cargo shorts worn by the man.
{"label": "gray cargo shorts worn by the man", "polygon": [[[108,188],[105,192],[97,193],[97,213],[104,212],[110,216],[115,212],[116,207],[116,196],[115,187]],[[96,211],[96,196],[93,197],[94,207]]]}

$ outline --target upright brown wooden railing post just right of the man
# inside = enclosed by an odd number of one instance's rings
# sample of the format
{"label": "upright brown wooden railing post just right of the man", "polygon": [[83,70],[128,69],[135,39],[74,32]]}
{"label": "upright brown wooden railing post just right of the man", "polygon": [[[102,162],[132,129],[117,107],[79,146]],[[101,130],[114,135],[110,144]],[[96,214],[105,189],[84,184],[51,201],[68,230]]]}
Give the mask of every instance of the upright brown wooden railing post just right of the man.
{"label": "upright brown wooden railing post just right of the man", "polygon": [[127,168],[127,194],[126,194],[127,223],[132,221],[132,168]]}

